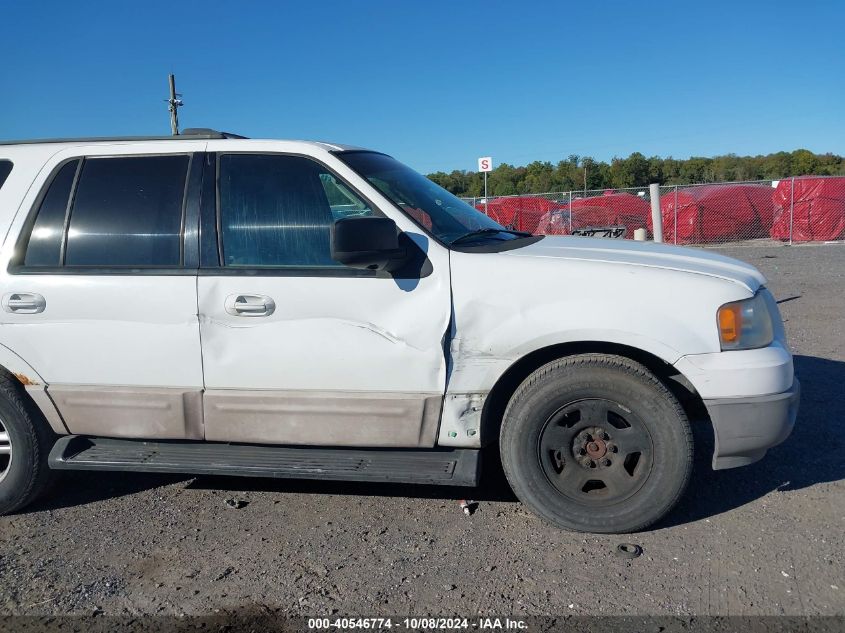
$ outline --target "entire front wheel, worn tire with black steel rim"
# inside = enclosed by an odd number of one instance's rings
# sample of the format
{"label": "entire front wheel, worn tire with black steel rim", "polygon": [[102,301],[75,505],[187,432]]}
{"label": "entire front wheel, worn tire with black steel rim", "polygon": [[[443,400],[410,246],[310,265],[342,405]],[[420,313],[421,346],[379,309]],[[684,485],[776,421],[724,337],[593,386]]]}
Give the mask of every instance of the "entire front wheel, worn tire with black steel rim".
{"label": "entire front wheel, worn tire with black steel rim", "polygon": [[532,373],[505,410],[502,467],[516,496],[555,526],[625,533],[660,520],[693,464],[689,421],[648,369],[580,354]]}

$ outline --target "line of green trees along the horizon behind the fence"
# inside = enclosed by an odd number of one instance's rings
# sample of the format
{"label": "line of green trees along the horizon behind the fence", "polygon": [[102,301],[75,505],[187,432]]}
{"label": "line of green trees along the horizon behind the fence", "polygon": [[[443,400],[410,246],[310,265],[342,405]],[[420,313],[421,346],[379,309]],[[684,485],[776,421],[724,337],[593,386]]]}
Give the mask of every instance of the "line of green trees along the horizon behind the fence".
{"label": "line of green trees along the horizon behind the fence", "polygon": [[[508,196],[547,191],[619,189],[645,187],[651,183],[686,185],[730,180],[777,180],[788,176],[845,175],[845,158],[836,154],[814,154],[806,149],[776,152],[765,156],[727,154],[713,158],[646,158],[634,152],[610,163],[589,156],[570,155],[557,164],[534,161],[523,167],[502,163],[488,174],[491,196]],[[484,176],[478,172],[454,170],[428,177],[455,195],[484,195]]]}

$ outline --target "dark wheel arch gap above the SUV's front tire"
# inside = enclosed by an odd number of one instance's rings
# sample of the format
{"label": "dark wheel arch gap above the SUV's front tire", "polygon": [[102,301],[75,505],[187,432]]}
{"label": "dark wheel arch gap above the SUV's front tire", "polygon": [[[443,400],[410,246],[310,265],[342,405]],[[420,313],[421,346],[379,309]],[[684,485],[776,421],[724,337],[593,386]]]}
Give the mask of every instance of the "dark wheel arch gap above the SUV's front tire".
{"label": "dark wheel arch gap above the SUV's front tire", "polygon": [[499,376],[481,413],[481,437],[484,444],[498,443],[505,408],[519,385],[532,372],[546,363],[576,354],[614,354],[636,361],[651,371],[678,398],[691,421],[709,419],[704,402],[692,383],[659,356],[621,343],[573,341],[534,350],[516,360]]}

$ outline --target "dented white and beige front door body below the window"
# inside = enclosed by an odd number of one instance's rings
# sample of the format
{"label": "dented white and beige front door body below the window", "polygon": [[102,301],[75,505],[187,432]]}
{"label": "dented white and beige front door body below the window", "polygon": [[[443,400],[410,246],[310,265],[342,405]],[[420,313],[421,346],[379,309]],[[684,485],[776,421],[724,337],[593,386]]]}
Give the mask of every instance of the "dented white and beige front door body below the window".
{"label": "dented white and beige front door body below the window", "polygon": [[[439,402],[446,382],[443,337],[450,304],[443,264],[410,290],[391,278],[200,276],[208,436],[280,444],[433,445],[433,432],[423,431],[432,428],[427,401],[434,396]],[[230,314],[225,303],[232,294],[271,297],[275,310],[263,317]],[[215,397],[225,395],[220,390],[239,390],[241,396],[246,390],[254,398],[228,399],[222,411],[224,402]],[[283,406],[289,400],[285,393],[301,403],[307,394],[292,392],[303,391],[315,399],[311,413],[300,407],[291,415]],[[332,422],[331,407],[318,403],[342,393],[353,394],[361,415],[336,415]],[[265,406],[257,416],[254,405],[265,396],[278,406],[275,412]],[[416,404],[385,425],[381,404],[396,396]],[[309,415],[325,437],[313,435]],[[236,425],[238,419],[251,419],[252,426]],[[364,432],[371,421],[378,422],[381,436]]]}

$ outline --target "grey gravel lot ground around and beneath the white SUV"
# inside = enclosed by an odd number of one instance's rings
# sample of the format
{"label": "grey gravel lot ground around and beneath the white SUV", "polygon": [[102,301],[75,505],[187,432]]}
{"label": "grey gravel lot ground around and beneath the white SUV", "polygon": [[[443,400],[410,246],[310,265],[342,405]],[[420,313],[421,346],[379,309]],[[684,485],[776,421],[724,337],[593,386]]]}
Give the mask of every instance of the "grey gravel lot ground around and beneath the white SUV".
{"label": "grey gravel lot ground around and beneath the white SUV", "polygon": [[[710,470],[703,434],[656,529],[560,532],[496,477],[468,491],[72,473],[0,518],[0,614],[845,615],[845,246],[721,252],[782,301],[801,414],[746,468]],[[464,496],[480,500],[470,517]],[[623,540],[644,554],[617,557]]]}

